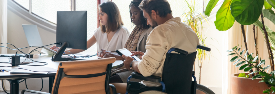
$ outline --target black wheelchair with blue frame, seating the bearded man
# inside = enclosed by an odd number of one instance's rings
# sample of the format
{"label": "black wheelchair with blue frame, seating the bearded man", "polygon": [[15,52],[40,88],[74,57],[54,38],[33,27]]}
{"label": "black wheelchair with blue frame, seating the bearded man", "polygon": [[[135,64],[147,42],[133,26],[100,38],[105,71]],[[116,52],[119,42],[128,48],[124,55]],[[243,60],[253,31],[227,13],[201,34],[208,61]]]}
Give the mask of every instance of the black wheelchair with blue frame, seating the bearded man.
{"label": "black wheelchair with blue frame, seating the bearded man", "polygon": [[[205,46],[197,48],[210,51]],[[171,53],[172,51],[178,54]],[[171,48],[166,54],[162,77],[151,75],[144,77],[142,74],[133,72],[127,79],[126,94],[215,94],[209,88],[197,84],[193,65],[197,52],[188,54],[187,51]],[[193,77],[193,81],[192,81]],[[131,78],[161,83],[161,87],[148,87],[139,82],[130,81]]]}

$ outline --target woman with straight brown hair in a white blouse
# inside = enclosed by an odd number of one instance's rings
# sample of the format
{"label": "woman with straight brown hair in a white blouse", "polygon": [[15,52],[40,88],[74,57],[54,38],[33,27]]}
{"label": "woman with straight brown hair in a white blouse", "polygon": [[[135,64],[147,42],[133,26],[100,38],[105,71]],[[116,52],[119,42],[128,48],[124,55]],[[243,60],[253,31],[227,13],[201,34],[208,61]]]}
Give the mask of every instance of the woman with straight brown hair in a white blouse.
{"label": "woman with straight brown hair in a white blouse", "polygon": [[[99,5],[100,26],[95,30],[94,35],[87,41],[87,49],[97,43],[97,52],[101,49],[115,51],[124,48],[130,35],[128,29],[123,25],[119,9],[112,1],[107,1]],[[57,51],[58,47],[51,49]],[[58,48],[59,49],[59,48]],[[68,49],[65,54],[79,53],[85,50]],[[92,54],[92,53],[91,53]]]}

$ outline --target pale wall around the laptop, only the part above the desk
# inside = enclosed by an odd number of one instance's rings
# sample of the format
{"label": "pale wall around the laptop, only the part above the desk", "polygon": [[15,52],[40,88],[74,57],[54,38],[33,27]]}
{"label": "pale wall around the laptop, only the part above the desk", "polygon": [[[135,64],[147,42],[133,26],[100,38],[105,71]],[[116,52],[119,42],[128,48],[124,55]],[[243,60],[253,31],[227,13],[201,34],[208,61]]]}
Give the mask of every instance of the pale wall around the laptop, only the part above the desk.
{"label": "pale wall around the laptop, only the part above the desk", "polygon": [[[18,15],[8,10],[8,43],[13,44],[17,48],[28,47],[28,41],[25,36],[22,24],[32,24]],[[37,27],[40,37],[44,45],[56,42],[56,34],[48,32],[40,27]],[[8,45],[9,48],[15,49],[13,46]],[[51,47],[51,46],[48,46]],[[22,49],[24,53],[28,53],[29,48]],[[16,50],[8,49],[8,54],[15,54]]]}

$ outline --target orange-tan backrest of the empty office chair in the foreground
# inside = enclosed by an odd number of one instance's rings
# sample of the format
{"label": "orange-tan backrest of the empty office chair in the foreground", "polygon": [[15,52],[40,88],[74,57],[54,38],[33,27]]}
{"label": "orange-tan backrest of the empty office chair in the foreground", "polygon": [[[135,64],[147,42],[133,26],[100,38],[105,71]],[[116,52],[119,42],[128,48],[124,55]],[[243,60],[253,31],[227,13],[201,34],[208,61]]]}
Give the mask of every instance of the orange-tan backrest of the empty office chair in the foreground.
{"label": "orange-tan backrest of the empty office chair in the foreground", "polygon": [[109,78],[115,58],[62,61],[52,94],[109,94]]}

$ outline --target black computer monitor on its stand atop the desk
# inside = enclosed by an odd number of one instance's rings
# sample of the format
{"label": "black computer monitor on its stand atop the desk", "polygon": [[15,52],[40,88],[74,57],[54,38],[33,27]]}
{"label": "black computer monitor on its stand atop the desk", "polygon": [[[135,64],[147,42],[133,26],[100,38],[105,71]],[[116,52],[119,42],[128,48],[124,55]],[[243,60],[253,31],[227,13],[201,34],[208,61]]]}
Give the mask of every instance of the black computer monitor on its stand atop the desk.
{"label": "black computer monitor on its stand atop the desk", "polygon": [[87,50],[87,11],[57,11],[56,46],[52,61],[81,60],[61,58],[66,48]]}

